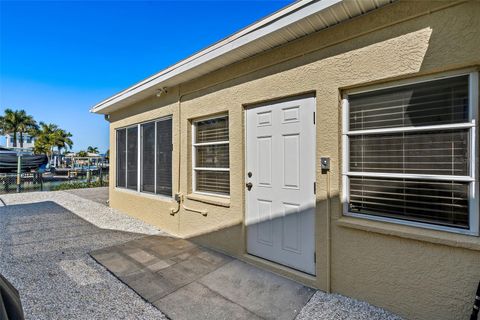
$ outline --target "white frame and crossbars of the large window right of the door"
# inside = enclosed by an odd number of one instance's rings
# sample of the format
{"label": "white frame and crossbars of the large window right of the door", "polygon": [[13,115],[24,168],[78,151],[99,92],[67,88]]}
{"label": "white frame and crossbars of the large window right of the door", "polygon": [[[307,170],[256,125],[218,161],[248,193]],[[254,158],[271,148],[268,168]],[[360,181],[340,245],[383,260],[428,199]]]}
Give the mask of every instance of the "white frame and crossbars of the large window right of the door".
{"label": "white frame and crossbars of the large window right of the door", "polygon": [[[366,129],[350,131],[349,122],[349,95],[372,92],[388,88],[397,88],[405,85],[419,84],[424,82],[431,82],[435,80],[447,79],[459,77],[462,75],[469,76],[468,85],[468,97],[469,97],[469,119],[468,122],[451,123],[441,125],[428,125],[421,127],[392,127],[381,129]],[[477,108],[479,107],[479,73],[476,69],[460,70],[449,73],[442,73],[439,75],[430,75],[426,77],[417,77],[414,79],[407,79],[403,81],[392,82],[383,85],[374,85],[369,87],[363,87],[359,89],[346,90],[342,96],[342,207],[343,215],[355,218],[395,223],[413,227],[420,227],[426,229],[447,231],[452,233],[460,233],[465,235],[479,236],[480,229],[480,213],[479,213],[479,201],[477,199],[479,195],[479,183],[476,181],[478,171],[478,150],[476,144],[478,143],[477,134]],[[439,131],[441,129],[469,129],[470,146],[469,146],[469,175],[468,176],[454,176],[454,175],[431,175],[431,174],[402,174],[402,173],[380,173],[380,172],[351,172],[350,171],[350,141],[349,137],[353,135],[362,134],[382,134],[382,133],[394,133],[394,132],[421,132],[428,130]],[[372,178],[411,178],[411,179],[424,179],[424,180],[448,180],[448,181],[462,181],[468,182],[469,186],[469,229],[462,229],[456,227],[436,225],[433,222],[418,222],[409,221],[399,218],[390,218],[371,215],[367,213],[355,213],[349,211],[350,202],[350,182],[349,177],[364,176]]]}

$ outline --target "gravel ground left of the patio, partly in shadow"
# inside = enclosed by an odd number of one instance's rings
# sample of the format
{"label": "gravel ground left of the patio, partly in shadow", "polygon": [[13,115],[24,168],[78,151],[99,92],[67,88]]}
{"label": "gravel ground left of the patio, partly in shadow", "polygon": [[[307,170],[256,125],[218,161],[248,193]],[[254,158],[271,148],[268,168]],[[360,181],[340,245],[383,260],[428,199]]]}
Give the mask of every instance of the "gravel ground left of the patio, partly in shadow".
{"label": "gravel ground left of the patio, partly in shadow", "polygon": [[66,192],[0,198],[0,273],[27,319],[165,319],[88,255],[158,230]]}

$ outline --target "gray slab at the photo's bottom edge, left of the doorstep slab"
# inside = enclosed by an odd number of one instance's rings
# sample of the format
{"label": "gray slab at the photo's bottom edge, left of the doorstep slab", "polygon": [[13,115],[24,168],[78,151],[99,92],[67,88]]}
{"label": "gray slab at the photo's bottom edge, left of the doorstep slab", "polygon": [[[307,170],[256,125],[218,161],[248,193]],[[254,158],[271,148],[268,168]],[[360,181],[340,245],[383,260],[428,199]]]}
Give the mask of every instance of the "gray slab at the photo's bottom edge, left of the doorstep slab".
{"label": "gray slab at the photo's bottom edge, left of the doorstep slab", "polygon": [[[188,301],[188,303],[179,303],[180,301]],[[155,301],[153,305],[163,310],[171,319],[261,319],[247,309],[225,299],[198,282],[192,282],[180,288],[168,296]]]}

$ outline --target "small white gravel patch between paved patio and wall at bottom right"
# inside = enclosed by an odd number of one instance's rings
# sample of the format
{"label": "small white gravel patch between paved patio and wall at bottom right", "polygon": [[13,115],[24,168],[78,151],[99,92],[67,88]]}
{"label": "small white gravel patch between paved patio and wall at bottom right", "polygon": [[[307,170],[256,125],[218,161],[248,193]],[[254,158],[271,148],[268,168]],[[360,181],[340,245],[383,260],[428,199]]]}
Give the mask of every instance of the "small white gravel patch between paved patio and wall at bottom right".
{"label": "small white gravel patch between paved patio and wall at bottom right", "polygon": [[401,320],[384,309],[339,294],[317,291],[296,320]]}

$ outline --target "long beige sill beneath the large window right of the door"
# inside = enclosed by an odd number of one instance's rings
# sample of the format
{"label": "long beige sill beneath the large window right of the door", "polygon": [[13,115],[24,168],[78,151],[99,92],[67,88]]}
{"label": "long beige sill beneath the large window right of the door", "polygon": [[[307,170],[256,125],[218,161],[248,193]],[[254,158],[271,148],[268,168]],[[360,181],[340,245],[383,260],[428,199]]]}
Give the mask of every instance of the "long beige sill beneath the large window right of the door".
{"label": "long beige sill beneath the large window right of the door", "polygon": [[345,216],[338,219],[335,223],[337,226],[345,228],[358,229],[388,236],[480,251],[480,237],[477,236],[428,230],[405,225],[397,225],[389,222]]}

